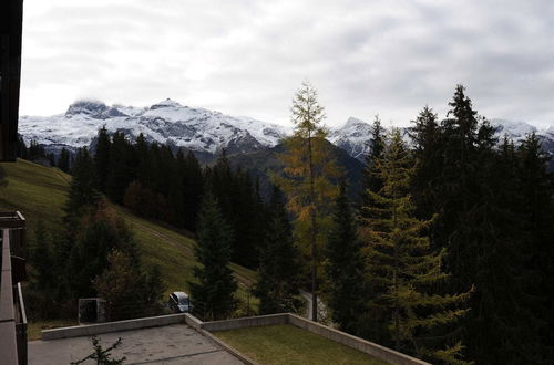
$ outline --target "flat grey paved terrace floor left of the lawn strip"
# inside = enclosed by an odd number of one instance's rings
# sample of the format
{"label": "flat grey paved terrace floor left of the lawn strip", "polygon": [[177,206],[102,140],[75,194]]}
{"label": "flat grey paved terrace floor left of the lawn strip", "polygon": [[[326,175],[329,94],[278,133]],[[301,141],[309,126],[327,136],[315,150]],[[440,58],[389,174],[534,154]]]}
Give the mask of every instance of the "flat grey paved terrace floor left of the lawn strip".
{"label": "flat grey paved terrace floor left of the lawn strip", "polygon": [[[122,344],[112,352],[112,355],[114,358],[125,356],[125,365],[243,364],[185,324],[105,333],[98,337],[101,338],[104,348],[121,337]],[[30,365],[69,365],[90,353],[92,343],[89,337],[29,342]],[[83,364],[95,364],[95,362],[86,361]]]}

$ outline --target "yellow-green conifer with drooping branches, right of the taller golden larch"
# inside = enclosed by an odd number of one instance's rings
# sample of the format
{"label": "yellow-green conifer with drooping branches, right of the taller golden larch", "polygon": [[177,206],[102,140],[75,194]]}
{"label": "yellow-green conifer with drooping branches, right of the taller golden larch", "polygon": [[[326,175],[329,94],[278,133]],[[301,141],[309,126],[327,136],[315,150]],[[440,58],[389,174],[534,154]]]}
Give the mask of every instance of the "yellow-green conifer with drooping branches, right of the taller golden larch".
{"label": "yellow-green conifer with drooping branches, right of the taller golden larch", "polygon": [[[383,187],[378,192],[368,190],[373,204],[362,209],[379,218],[362,219],[360,229],[372,289],[372,340],[417,356],[462,363],[461,343],[441,337],[437,331],[466,313],[460,306],[469,293],[441,295],[433,290],[448,279],[441,269],[444,250],[431,250],[429,238],[421,234],[430,221],[413,217],[409,194],[412,158],[398,129],[376,167]],[[441,337],[440,346],[425,341],[430,333]]]}

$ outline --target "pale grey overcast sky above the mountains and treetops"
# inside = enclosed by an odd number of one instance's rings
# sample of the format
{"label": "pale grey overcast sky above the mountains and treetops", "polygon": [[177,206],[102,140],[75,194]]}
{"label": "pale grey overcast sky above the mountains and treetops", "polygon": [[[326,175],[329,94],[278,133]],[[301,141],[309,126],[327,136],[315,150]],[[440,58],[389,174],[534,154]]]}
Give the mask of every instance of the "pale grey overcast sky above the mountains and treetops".
{"label": "pale grey overcast sky above the mountains and treetops", "polygon": [[480,114],[554,125],[552,0],[24,0],[21,114],[78,98],[289,123],[304,80],[327,123]]}

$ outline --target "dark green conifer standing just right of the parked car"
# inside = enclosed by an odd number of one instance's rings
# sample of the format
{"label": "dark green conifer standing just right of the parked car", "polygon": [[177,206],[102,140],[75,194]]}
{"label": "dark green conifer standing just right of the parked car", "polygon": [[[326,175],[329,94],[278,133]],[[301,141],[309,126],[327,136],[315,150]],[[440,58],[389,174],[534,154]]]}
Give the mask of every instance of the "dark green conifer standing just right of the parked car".
{"label": "dark green conifer standing just right of the parked car", "polygon": [[189,283],[193,305],[204,320],[225,319],[236,305],[237,283],[229,269],[233,232],[211,194],[204,198],[196,234],[195,257],[202,267],[194,269],[197,282]]}

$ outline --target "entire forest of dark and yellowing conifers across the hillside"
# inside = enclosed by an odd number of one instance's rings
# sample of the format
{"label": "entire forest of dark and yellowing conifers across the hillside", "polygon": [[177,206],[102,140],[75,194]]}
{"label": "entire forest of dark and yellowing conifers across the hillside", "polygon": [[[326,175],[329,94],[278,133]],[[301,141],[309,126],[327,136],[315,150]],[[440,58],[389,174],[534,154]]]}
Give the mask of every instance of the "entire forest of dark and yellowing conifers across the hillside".
{"label": "entire forest of dark and yellowing conifers across the hillside", "polygon": [[[554,178],[534,134],[517,145],[495,138],[459,85],[443,118],[428,106],[416,116],[410,144],[376,118],[362,180],[348,181],[309,84],[293,119],[267,198],[225,153],[203,167],[192,153],[101,128],[95,154],[83,148],[71,164],[65,237],[49,252],[33,249],[37,292],[57,293],[42,303],[122,300],[106,283],[132,273],[145,303],[160,299],[158,273],[141,271],[105,196],[195,234],[203,265],[192,298],[207,317],[233,315],[233,261],[258,270],[261,314],[298,310],[304,289],[328,306],[315,320],[433,363],[554,358]],[[69,155],[57,164],[70,170]],[[355,199],[352,184],[362,186]],[[52,274],[52,262],[68,264]],[[52,275],[72,279],[51,291]]]}

